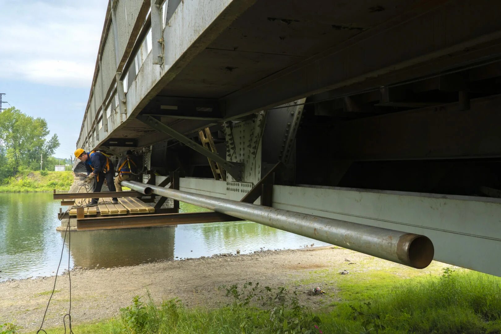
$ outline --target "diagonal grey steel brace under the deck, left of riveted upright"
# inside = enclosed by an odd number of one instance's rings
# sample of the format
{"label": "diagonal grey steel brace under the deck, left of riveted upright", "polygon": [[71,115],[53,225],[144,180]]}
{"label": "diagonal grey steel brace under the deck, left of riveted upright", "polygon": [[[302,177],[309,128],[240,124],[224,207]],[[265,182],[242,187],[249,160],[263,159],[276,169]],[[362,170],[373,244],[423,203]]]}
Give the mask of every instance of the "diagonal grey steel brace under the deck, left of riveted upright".
{"label": "diagonal grey steel brace under the deck, left of riveted upright", "polygon": [[144,124],[147,124],[151,128],[157,130],[158,132],[163,132],[168,134],[169,136],[172,136],[173,138],[177,139],[181,143],[187,145],[189,148],[197,151],[198,153],[206,156],[207,158],[221,164],[223,168],[237,181],[242,180],[242,174],[243,174],[243,164],[237,163],[237,162],[228,162],[225,159],[221,158],[219,155],[212,153],[211,151],[207,150],[203,146],[201,146],[198,143],[195,143],[185,135],[175,131],[174,129],[170,128],[169,126],[163,124],[159,120],[155,119],[154,117],[151,116],[138,116],[138,120],[143,122]]}

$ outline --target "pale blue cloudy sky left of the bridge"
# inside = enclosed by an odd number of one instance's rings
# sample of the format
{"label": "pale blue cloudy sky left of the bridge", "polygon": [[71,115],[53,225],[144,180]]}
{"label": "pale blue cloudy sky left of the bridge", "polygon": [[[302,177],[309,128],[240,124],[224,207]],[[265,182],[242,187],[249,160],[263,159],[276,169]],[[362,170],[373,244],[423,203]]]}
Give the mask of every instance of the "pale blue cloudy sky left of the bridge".
{"label": "pale blue cloudy sky left of the bridge", "polygon": [[0,93],[76,149],[108,0],[0,0]]}

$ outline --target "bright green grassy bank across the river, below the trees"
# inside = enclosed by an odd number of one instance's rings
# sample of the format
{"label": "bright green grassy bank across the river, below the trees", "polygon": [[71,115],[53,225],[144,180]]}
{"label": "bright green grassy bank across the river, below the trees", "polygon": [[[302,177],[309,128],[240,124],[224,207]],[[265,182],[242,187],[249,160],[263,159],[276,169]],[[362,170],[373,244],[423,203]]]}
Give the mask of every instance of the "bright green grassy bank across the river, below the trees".
{"label": "bright green grassy bank across the river, below the trees", "polygon": [[73,173],[48,171],[22,171],[15,177],[5,179],[0,183],[2,192],[44,192],[53,189],[70,189],[73,184]]}

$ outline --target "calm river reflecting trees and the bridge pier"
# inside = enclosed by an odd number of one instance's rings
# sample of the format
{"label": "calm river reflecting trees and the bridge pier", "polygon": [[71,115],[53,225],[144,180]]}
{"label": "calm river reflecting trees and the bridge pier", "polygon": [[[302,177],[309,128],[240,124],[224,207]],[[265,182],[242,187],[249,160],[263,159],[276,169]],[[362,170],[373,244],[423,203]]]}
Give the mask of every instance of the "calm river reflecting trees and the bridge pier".
{"label": "calm river reflecting trees and the bridge pier", "polygon": [[[56,231],[59,208],[51,193],[0,193],[0,281],[55,274],[65,233]],[[207,210],[180,203],[180,211]],[[60,271],[68,260],[71,268],[101,268],[327,245],[249,221],[72,232],[70,254],[68,241]]]}

